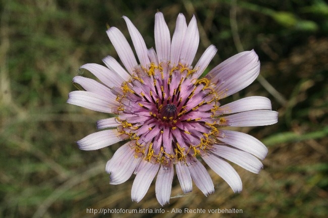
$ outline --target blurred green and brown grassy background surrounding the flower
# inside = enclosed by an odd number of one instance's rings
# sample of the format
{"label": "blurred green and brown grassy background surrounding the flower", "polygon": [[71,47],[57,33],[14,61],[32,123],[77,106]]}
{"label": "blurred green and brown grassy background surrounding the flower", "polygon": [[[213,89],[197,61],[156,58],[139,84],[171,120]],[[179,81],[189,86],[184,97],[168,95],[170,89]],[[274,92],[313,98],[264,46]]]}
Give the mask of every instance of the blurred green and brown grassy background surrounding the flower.
{"label": "blurred green and brown grassy background surrounding the flower", "polygon": [[[243,191],[234,194],[212,171],[215,193],[195,186],[182,195],[177,177],[163,207],[242,209],[243,213],[134,214],[134,217],[328,217],[328,5],[321,0],[88,1],[2,0],[0,3],[0,217],[128,217],[87,208],[160,208],[154,182],[144,199],[131,201],[133,178],[110,185],[105,163],[119,145],[81,151],[76,140],[96,131],[108,115],[66,103],[84,63],[118,58],[105,30],[128,36],[129,17],[154,46],[154,15],[165,15],[171,33],[184,13],[196,15],[200,45],[217,55],[209,68],[255,49],[261,77],[223,103],[266,96],[279,122],[248,127],[269,153],[260,174],[236,165]],[[133,176],[132,176],[133,177]]]}

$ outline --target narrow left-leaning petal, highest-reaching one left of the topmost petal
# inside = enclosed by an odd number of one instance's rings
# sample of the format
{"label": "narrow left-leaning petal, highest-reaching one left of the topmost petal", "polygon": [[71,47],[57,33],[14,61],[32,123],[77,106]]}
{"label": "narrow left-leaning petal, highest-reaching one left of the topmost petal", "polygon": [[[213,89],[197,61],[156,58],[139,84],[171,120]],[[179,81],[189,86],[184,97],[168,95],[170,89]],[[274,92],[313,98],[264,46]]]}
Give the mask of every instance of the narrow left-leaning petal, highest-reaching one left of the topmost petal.
{"label": "narrow left-leaning petal, highest-reaching one left of the topmost petal", "polygon": [[136,50],[137,56],[139,58],[140,64],[144,67],[149,65],[150,61],[147,55],[147,47],[145,41],[143,40],[141,34],[137,28],[132,24],[129,18],[123,16],[125,22],[127,23],[131,39]]}

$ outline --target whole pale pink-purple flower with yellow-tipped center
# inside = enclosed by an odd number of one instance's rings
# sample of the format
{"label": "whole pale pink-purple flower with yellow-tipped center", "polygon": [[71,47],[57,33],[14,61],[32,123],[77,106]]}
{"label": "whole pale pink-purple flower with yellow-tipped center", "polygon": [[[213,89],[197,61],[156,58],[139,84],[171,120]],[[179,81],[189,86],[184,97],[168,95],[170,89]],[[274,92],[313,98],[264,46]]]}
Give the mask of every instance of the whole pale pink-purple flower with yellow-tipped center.
{"label": "whole pale pink-purple flower with yellow-tipped center", "polygon": [[251,135],[226,130],[223,126],[262,126],[278,121],[265,97],[246,97],[226,105],[220,100],[248,85],[258,76],[260,62],[254,52],[236,54],[200,78],[216,53],[210,45],[192,67],[199,33],[193,16],[189,25],[182,14],[172,37],[162,13],[155,15],[155,48],[145,42],[127,18],[128,30],[138,56],[116,27],[106,32],[123,65],[111,56],[105,66],[88,63],[100,83],[77,76],[74,83],[85,91],[73,91],[68,103],[94,111],[116,114],[97,121],[97,128],[77,144],[82,150],[101,149],[126,140],[106,164],[111,184],[121,184],[136,174],[132,200],[139,202],[157,174],[156,198],[169,203],[174,167],[184,193],[192,191],[192,180],[207,196],[213,182],[200,158],[220,175],[234,192],[242,182],[231,161],[259,173],[267,148]]}

